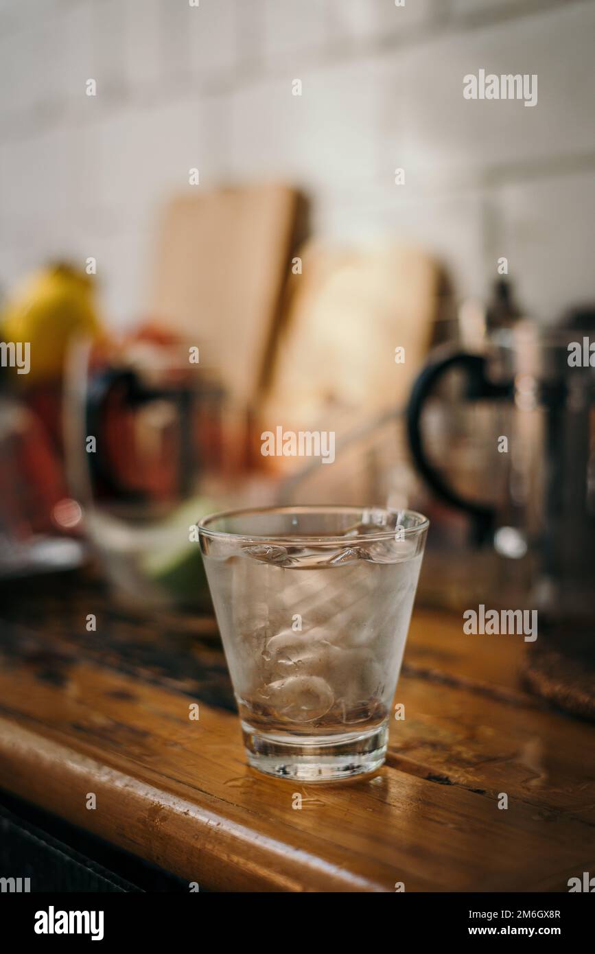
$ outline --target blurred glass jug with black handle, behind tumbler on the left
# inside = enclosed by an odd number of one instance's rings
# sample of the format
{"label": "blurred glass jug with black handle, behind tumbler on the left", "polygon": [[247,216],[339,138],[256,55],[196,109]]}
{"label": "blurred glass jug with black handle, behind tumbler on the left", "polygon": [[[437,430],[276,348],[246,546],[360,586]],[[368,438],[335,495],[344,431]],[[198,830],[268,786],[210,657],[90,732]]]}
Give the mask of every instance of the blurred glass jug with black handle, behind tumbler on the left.
{"label": "blurred glass jug with black handle, behind tumbler on the left", "polygon": [[[145,335],[69,356],[65,446],[83,529],[120,601],[208,606],[191,527],[214,508],[205,476],[245,466],[246,424],[189,362],[184,342]],[[243,446],[242,446],[243,441]]]}

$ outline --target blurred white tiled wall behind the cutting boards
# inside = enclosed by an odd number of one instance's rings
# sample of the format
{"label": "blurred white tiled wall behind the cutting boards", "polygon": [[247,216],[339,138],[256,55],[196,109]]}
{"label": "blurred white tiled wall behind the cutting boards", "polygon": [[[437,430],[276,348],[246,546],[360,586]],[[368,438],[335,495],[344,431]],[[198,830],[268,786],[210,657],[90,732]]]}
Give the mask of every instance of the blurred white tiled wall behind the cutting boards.
{"label": "blurred white tiled wall behind the cutting boards", "polygon": [[[594,33],[593,0],[0,0],[0,285],[96,254],[132,321],[197,165],[296,181],[321,234],[421,244],[461,295],[507,255],[550,319],[595,298]],[[538,73],[538,105],[464,100],[481,67]]]}

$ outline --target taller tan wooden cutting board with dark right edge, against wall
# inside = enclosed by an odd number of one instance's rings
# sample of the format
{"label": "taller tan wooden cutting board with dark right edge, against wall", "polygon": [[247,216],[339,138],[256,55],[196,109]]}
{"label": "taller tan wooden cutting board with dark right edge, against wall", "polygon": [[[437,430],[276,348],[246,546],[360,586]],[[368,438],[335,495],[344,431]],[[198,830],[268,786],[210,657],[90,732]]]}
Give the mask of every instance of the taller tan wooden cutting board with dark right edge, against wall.
{"label": "taller tan wooden cutting board with dark right edge, against wall", "polygon": [[298,194],[284,185],[178,197],[161,222],[150,314],[200,349],[200,364],[251,404],[290,265]]}

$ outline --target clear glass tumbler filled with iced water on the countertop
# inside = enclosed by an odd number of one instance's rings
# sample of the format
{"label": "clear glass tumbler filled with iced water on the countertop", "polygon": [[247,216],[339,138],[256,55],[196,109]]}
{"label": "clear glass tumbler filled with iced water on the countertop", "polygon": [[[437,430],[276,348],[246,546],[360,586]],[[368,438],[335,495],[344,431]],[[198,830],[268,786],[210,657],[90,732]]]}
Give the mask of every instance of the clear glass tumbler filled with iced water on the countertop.
{"label": "clear glass tumbler filled with iced water on the countertop", "polygon": [[198,527],[250,764],[307,781],[378,769],[427,519],[277,507]]}

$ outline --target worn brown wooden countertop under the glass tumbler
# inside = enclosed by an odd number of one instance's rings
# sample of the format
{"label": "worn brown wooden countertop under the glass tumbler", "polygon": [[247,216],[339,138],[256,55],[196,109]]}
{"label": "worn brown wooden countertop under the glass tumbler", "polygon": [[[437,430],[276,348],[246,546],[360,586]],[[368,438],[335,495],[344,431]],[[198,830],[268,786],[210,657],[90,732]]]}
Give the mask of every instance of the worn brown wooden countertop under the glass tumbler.
{"label": "worn brown wooden countertop under the glass tumbler", "polygon": [[4,584],[0,786],[212,890],[566,891],[595,865],[593,727],[523,692],[526,650],[417,609],[385,766],[304,785],[246,765],[212,619]]}

